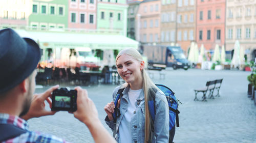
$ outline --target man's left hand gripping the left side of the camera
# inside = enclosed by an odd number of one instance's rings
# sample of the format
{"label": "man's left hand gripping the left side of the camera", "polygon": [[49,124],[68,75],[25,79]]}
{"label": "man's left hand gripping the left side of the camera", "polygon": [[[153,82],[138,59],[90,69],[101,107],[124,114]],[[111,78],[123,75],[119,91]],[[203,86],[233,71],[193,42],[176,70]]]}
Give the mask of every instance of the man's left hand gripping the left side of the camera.
{"label": "man's left hand gripping the left side of the camera", "polygon": [[49,103],[50,107],[52,107],[52,101],[49,98],[52,96],[51,93],[58,88],[59,85],[55,85],[44,93],[35,94],[32,98],[28,113],[21,118],[29,120],[34,117],[54,115],[56,111],[48,111],[45,109],[45,100]]}

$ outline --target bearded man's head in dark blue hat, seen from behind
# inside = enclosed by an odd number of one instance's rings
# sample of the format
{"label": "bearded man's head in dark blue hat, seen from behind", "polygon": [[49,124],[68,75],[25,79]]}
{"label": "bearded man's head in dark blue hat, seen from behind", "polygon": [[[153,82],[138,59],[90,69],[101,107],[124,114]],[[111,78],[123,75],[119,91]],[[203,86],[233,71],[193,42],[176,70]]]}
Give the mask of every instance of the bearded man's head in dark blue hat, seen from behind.
{"label": "bearded man's head in dark blue hat, seen from behind", "polygon": [[18,87],[26,95],[20,115],[29,109],[39,60],[40,48],[35,41],[19,37],[10,28],[0,31],[0,99],[8,98]]}

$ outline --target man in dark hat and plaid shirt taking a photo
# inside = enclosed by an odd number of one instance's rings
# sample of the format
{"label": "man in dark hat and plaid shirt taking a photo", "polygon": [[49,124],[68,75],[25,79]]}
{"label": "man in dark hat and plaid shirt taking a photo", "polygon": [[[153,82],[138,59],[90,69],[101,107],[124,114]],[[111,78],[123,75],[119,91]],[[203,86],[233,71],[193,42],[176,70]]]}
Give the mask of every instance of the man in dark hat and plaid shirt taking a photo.
{"label": "man in dark hat and plaid shirt taking a photo", "polygon": [[[0,142],[66,142],[53,135],[28,130],[26,120],[55,113],[45,109],[45,101],[52,105],[49,98],[58,85],[32,96],[39,59],[40,49],[33,40],[20,38],[10,28],[0,31]],[[99,121],[87,91],[80,87],[75,90],[74,117],[87,125],[95,142],[115,142]]]}

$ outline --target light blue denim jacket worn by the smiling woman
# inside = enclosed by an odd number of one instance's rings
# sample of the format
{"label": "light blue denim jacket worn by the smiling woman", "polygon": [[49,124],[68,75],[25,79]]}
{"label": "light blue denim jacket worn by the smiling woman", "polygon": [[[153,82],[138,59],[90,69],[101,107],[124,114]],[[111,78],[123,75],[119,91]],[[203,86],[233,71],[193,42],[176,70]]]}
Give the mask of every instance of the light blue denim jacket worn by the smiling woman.
{"label": "light blue denim jacket worn by the smiling woman", "polygon": [[[118,92],[120,87],[117,87],[113,92],[113,100],[116,97],[116,94]],[[122,92],[123,96],[121,98],[120,102],[120,117],[117,118],[116,123],[114,121],[110,121],[108,116],[105,118],[106,124],[112,129],[114,133],[116,133],[116,136],[114,136],[119,142],[119,132],[118,127],[120,125],[120,122],[123,118],[124,113],[127,110],[127,106],[129,103],[128,98],[128,91],[130,87],[129,85],[124,89]],[[166,143],[168,142],[169,137],[169,108],[167,100],[165,99],[164,93],[161,91],[157,91],[156,93],[156,116],[155,116],[155,122],[154,122],[154,137],[152,137],[152,143],[158,142],[158,143]],[[131,121],[131,131],[132,131],[132,142],[144,142],[144,129],[145,129],[145,100],[144,100],[144,92],[142,91],[137,98],[136,101],[136,111],[135,116],[132,118]]]}

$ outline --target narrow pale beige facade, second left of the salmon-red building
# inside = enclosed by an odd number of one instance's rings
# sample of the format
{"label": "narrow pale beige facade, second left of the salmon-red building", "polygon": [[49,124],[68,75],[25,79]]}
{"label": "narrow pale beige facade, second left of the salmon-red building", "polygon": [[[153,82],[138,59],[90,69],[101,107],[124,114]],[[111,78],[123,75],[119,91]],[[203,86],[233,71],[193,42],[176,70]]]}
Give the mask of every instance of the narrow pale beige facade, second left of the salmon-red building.
{"label": "narrow pale beige facade, second left of the salmon-red building", "polygon": [[162,45],[170,45],[176,43],[177,30],[177,1],[162,0],[161,1],[161,21],[160,21],[160,43]]}

